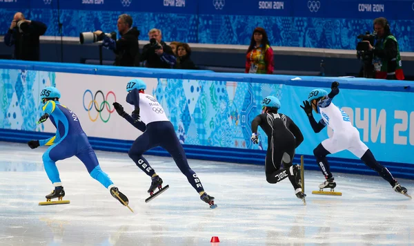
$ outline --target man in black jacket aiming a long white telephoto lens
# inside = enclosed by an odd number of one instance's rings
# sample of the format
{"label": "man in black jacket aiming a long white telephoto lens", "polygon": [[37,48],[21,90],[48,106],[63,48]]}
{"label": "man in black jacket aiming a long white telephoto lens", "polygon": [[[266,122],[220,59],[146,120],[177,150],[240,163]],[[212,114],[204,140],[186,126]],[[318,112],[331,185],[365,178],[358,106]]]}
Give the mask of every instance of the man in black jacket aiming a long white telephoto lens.
{"label": "man in black jacket aiming a long white telephoto lens", "polygon": [[106,36],[101,30],[94,32],[99,36],[99,40],[103,40],[104,48],[114,51],[115,66],[139,66],[139,30],[131,26],[132,17],[123,14],[118,17],[117,27],[121,38],[117,41]]}

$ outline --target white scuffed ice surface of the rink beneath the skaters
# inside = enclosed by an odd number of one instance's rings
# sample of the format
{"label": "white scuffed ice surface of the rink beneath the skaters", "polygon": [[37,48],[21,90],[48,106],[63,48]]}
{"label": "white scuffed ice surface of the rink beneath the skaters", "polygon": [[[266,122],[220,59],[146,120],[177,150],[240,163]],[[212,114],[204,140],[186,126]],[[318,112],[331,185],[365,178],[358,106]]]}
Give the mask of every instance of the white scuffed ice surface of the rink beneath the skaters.
{"label": "white scuffed ice surface of the rink beneath the skaters", "polygon": [[[172,158],[146,155],[170,189],[149,203],[150,178],[126,153],[97,151],[103,171],[128,196],[132,214],[77,158],[58,162],[69,205],[38,206],[53,187],[43,169],[45,147],[0,142],[0,245],[411,245],[413,200],[379,176],[334,173],[335,191],[311,193],[322,173],[305,171],[307,205],[288,179],[266,182],[264,166],[189,160],[217,209]],[[305,166],[306,167],[306,166]],[[399,180],[414,191],[414,182]]]}

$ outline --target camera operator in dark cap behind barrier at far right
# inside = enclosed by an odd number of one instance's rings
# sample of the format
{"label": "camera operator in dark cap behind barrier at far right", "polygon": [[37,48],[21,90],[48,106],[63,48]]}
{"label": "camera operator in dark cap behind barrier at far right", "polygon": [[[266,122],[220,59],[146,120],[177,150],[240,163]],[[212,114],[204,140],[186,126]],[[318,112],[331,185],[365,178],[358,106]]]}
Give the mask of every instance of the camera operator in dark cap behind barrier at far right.
{"label": "camera operator in dark cap behind barrier at far right", "polygon": [[368,42],[368,50],[372,52],[375,79],[404,79],[400,49],[397,39],[391,34],[388,21],[384,17],[373,21],[377,32],[374,46]]}

